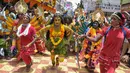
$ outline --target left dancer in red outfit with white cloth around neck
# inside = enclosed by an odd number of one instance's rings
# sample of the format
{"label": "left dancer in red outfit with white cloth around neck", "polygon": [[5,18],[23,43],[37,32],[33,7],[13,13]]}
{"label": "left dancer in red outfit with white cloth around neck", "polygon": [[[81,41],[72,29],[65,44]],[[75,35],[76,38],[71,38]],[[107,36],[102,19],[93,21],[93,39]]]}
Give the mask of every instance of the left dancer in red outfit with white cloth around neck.
{"label": "left dancer in red outfit with white cloth around neck", "polygon": [[22,59],[26,64],[26,71],[30,71],[32,65],[31,54],[35,53],[35,45],[33,44],[35,39],[35,29],[29,24],[30,18],[25,15],[23,17],[23,24],[18,27],[17,36],[20,38],[20,54],[18,60]]}

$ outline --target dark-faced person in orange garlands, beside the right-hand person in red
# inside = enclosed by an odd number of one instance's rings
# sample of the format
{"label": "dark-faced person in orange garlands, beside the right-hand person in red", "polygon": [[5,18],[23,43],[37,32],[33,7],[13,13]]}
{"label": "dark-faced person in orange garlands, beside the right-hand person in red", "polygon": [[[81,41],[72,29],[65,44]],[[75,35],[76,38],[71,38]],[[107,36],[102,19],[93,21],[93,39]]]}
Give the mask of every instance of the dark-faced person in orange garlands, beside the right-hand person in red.
{"label": "dark-faced person in orange garlands, beside the right-hand person in red", "polygon": [[[95,37],[98,33],[101,32],[101,27],[98,21],[94,21],[92,24],[92,27],[88,30],[86,35],[89,37]],[[89,71],[93,72],[95,69],[95,66],[97,64],[97,58],[99,56],[100,48],[101,48],[101,40],[98,42],[91,42],[85,39],[88,43],[86,47],[86,52],[85,52],[85,62],[86,66]]]}

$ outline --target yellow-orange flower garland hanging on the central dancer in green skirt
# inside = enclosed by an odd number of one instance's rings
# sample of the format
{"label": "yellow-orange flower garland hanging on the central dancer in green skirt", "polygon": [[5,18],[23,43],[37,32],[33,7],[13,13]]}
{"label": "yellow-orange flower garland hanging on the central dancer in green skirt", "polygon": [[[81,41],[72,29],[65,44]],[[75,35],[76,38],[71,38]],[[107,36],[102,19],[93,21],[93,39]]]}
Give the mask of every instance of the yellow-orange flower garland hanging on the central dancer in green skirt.
{"label": "yellow-orange flower garland hanging on the central dancer in green skirt", "polygon": [[[55,42],[54,37],[57,37],[58,35],[60,35],[60,39],[57,42]],[[53,24],[52,27],[50,28],[50,39],[51,39],[52,44],[54,46],[57,46],[62,41],[63,37],[64,37],[64,25],[61,24],[60,31],[56,32],[54,30],[54,24]]]}

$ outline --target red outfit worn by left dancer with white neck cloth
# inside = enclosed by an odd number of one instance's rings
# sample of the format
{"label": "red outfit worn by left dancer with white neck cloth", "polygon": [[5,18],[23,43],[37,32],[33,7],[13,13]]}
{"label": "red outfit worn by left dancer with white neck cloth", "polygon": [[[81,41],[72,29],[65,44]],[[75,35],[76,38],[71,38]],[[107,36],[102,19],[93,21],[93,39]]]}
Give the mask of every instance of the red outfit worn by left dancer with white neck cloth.
{"label": "red outfit worn by left dancer with white neck cloth", "polygon": [[[22,27],[20,33],[22,33],[25,30],[25,28]],[[20,45],[21,45],[21,49],[20,49],[20,54],[18,56],[18,60],[20,60],[21,58],[23,59],[23,61],[28,65],[31,63],[31,54],[35,54],[35,49],[36,46],[35,44],[31,45],[28,48],[24,48],[24,46],[28,45],[30,42],[32,42],[34,40],[34,35],[35,35],[36,31],[35,29],[31,26],[29,27],[29,31],[28,34],[26,36],[21,36],[20,37]]]}

